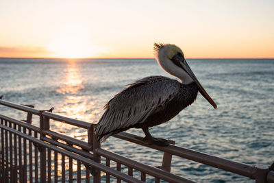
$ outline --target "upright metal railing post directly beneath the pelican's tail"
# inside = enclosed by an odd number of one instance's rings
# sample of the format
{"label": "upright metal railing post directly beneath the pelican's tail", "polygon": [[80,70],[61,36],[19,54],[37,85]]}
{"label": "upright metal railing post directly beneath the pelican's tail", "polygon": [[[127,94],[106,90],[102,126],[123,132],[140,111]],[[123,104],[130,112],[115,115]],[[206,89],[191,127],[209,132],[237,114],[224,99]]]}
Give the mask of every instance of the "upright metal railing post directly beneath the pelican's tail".
{"label": "upright metal railing post directly beneath the pelican's tail", "polygon": [[[93,145],[92,145],[92,151],[93,151],[93,156],[95,158],[95,162],[101,163],[101,157],[99,154],[97,154],[96,149],[100,148],[100,142],[97,141],[97,135],[95,134],[95,126],[92,125],[92,136],[93,136]],[[101,182],[101,173],[100,171],[97,171],[95,175],[93,176],[93,182],[100,183]]]}

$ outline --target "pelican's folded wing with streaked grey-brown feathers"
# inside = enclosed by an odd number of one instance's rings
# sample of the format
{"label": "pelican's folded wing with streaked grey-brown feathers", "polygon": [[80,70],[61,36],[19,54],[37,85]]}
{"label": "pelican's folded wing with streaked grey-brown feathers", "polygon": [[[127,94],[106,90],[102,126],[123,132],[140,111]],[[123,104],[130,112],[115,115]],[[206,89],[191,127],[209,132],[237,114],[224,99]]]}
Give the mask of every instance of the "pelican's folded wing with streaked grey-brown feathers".
{"label": "pelican's folded wing with streaked grey-brown feathers", "polygon": [[105,113],[96,127],[97,134],[110,136],[143,123],[178,92],[179,82],[162,76],[145,77],[129,84],[105,105]]}

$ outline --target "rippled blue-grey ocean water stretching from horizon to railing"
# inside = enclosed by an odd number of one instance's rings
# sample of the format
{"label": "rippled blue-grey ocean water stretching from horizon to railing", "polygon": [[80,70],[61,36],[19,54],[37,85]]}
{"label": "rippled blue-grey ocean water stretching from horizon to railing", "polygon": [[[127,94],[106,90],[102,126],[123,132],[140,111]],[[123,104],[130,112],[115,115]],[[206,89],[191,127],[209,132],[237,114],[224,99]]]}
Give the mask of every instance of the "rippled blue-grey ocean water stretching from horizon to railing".
{"label": "rippled blue-grey ocean water stretching from horizon to railing", "polygon": [[[169,123],[151,128],[176,145],[247,164],[274,162],[274,60],[187,60],[218,108],[201,95]],[[166,75],[154,59],[0,58],[0,95],[14,103],[97,123],[103,106],[135,80]],[[171,77],[171,76],[169,76]],[[0,106],[0,113],[23,119],[25,113]],[[34,118],[38,125],[38,119]],[[51,129],[86,140],[86,132],[62,123]],[[144,136],[142,130],[128,130]],[[159,166],[162,153],[110,137],[103,148]],[[234,173],[173,156],[171,171],[197,182],[253,182]],[[148,182],[151,180],[148,179]]]}

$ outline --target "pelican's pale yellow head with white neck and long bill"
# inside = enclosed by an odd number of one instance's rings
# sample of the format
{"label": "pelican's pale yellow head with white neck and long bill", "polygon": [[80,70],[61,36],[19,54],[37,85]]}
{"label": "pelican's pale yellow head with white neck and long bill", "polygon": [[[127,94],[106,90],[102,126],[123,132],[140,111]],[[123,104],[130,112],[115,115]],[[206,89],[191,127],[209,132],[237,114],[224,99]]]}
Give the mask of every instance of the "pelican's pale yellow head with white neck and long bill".
{"label": "pelican's pale yellow head with white neck and long bill", "polygon": [[206,93],[206,90],[201,86],[197,77],[191,71],[186,59],[184,58],[184,53],[182,49],[176,45],[163,45],[154,43],[154,49],[158,53],[158,63],[164,71],[178,77],[183,84],[190,84],[195,82],[199,87],[199,92],[205,99],[216,109],[217,105],[211,99],[210,95]]}

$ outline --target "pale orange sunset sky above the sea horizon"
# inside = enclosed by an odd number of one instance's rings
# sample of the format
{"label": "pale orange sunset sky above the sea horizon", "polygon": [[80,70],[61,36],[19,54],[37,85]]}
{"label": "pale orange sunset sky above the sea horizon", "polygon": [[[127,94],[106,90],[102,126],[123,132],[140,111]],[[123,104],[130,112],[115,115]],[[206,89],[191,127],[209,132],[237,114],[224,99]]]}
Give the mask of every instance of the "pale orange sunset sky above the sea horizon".
{"label": "pale orange sunset sky above the sea horizon", "polygon": [[0,1],[0,57],[274,58],[274,1]]}

